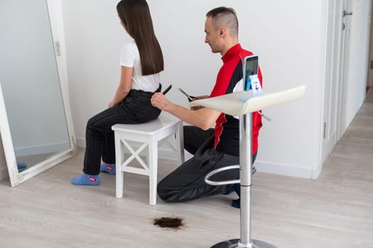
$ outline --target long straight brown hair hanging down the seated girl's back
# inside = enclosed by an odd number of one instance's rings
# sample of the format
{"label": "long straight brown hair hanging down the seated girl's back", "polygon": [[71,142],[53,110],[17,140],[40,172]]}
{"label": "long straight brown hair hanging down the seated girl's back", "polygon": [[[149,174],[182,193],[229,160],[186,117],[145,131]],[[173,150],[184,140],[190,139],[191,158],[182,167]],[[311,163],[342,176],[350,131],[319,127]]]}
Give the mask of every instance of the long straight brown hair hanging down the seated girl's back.
{"label": "long straight brown hair hanging down the seated girl's back", "polygon": [[134,38],[140,53],[143,75],[163,71],[163,54],[154,33],[153,21],[146,0],[121,0],[117,12],[127,33]]}

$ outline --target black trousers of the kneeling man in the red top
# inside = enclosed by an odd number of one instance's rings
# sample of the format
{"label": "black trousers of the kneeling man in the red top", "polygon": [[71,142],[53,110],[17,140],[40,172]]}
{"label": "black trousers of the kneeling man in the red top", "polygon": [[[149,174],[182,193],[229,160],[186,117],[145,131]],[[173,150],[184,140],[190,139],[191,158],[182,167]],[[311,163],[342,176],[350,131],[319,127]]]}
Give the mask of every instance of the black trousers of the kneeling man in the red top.
{"label": "black trousers of the kneeling man in the red top", "polygon": [[[195,198],[226,193],[231,185],[211,186],[205,176],[212,170],[239,164],[239,157],[217,152],[213,149],[214,130],[202,130],[195,126],[184,126],[185,150],[194,157],[181,164],[158,183],[158,196],[167,202],[190,201]],[[256,154],[255,154],[256,155]],[[254,162],[255,156],[253,157]],[[239,169],[215,174],[212,181],[239,179]]]}

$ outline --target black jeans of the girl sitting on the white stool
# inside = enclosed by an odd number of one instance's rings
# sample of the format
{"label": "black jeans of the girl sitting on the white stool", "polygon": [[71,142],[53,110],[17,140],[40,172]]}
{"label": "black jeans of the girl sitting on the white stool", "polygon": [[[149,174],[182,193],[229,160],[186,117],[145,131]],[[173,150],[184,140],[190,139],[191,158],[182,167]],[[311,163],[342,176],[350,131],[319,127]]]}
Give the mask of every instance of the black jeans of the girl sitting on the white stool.
{"label": "black jeans of the girl sitting on the white stool", "polygon": [[[157,91],[161,91],[161,86]],[[115,163],[112,125],[146,123],[158,118],[161,110],[151,105],[151,96],[153,92],[131,89],[123,101],[88,120],[85,131],[85,174],[99,174],[101,159],[108,164]]]}

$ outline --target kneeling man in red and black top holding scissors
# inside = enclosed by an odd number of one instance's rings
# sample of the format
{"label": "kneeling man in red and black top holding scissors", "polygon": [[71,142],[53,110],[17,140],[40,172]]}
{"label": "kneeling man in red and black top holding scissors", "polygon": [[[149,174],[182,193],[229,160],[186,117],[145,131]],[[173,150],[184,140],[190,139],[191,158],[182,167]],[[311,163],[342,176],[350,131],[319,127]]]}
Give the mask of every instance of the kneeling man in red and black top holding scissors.
{"label": "kneeling man in red and black top holding scissors", "polygon": [[[210,45],[212,52],[222,55],[223,62],[210,97],[242,91],[244,57],[252,55],[252,52],[242,49],[239,44],[236,13],[231,8],[219,7],[209,11],[206,17],[205,43]],[[260,69],[258,77],[261,81]],[[192,125],[184,127],[184,142],[185,149],[194,154],[194,157],[159,182],[158,196],[164,201],[181,202],[229,193],[233,188],[237,188],[236,192],[239,193],[239,187],[234,185],[210,186],[205,183],[205,176],[210,171],[239,164],[238,118],[211,108],[183,108],[168,101],[161,93],[154,94],[151,103]],[[215,128],[212,129],[214,124]],[[260,128],[261,116],[253,113],[253,162]],[[236,169],[215,174],[211,180],[238,178],[239,170]],[[232,205],[239,207],[239,200],[235,201]]]}

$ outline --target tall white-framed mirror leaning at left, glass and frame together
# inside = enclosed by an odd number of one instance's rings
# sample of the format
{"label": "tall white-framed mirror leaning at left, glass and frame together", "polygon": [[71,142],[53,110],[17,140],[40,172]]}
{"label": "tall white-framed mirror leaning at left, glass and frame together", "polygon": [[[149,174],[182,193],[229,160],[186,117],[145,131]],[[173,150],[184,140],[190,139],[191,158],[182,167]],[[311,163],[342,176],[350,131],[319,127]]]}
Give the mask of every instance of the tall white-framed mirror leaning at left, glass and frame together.
{"label": "tall white-framed mirror leaning at left, glass and frame together", "polygon": [[11,186],[76,154],[60,1],[0,1],[0,134]]}

